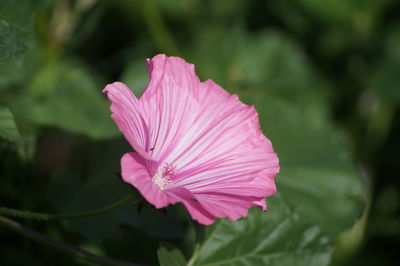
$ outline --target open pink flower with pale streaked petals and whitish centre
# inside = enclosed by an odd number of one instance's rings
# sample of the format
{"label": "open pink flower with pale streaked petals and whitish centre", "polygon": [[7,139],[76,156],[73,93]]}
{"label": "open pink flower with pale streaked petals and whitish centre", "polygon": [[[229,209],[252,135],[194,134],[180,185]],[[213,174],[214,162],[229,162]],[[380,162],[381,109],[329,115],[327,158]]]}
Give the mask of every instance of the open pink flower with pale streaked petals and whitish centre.
{"label": "open pink flower with pale streaked petals and whitish centre", "polygon": [[157,55],[147,67],[139,99],[120,82],[103,91],[136,151],[121,159],[123,180],[156,208],[183,203],[205,225],[246,216],[251,206],[265,211],[279,162],[254,107],[212,80],[200,82],[179,57]]}

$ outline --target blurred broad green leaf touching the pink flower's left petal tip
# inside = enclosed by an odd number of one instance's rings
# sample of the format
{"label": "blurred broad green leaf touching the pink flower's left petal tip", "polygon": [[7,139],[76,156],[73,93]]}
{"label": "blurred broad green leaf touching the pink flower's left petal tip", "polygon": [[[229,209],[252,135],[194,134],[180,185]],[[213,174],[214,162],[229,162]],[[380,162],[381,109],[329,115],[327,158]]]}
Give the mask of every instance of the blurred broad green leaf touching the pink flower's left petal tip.
{"label": "blurred broad green leaf touching the pink flower's left petal tip", "polygon": [[102,89],[103,85],[95,83],[80,64],[55,63],[40,69],[14,109],[39,126],[110,138],[119,132]]}

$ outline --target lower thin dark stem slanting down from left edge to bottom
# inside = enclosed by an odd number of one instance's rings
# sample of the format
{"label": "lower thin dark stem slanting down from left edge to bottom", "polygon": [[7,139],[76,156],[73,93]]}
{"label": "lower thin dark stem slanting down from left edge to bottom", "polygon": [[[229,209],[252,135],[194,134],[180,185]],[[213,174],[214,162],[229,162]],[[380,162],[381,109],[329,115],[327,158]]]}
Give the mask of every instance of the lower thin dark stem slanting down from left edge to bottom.
{"label": "lower thin dark stem slanting down from left edge to bottom", "polygon": [[68,243],[48,237],[3,216],[0,216],[0,225],[35,241],[50,245],[73,255],[83,256],[84,258],[101,265],[137,265],[90,253]]}

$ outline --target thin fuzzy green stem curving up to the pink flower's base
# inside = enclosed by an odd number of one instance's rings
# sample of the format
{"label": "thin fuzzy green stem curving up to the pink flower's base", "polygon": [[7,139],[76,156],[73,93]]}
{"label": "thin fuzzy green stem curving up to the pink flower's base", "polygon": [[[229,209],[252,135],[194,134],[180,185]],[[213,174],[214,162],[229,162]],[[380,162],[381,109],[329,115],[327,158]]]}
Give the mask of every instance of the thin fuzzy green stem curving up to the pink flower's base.
{"label": "thin fuzzy green stem curving up to the pink flower's base", "polygon": [[122,200],[120,200],[116,203],[113,203],[109,206],[106,206],[106,207],[103,207],[100,209],[96,209],[96,210],[91,210],[91,211],[86,211],[86,212],[77,212],[77,213],[47,214],[47,213],[21,211],[21,210],[1,207],[0,214],[6,215],[6,216],[12,216],[12,217],[20,217],[20,218],[25,218],[25,219],[37,219],[37,220],[79,219],[79,218],[91,217],[91,216],[96,216],[96,215],[100,215],[103,213],[111,212],[113,210],[116,210],[118,208],[121,208],[121,207],[131,203],[132,200],[133,200],[133,196],[127,196],[127,197],[123,198]]}

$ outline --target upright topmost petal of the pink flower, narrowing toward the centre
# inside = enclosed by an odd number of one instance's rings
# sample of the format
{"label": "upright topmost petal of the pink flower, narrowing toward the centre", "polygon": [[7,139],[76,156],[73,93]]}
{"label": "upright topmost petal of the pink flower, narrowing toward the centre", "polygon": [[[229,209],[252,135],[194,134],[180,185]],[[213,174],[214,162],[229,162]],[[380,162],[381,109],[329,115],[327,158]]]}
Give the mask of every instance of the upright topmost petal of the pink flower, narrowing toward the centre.
{"label": "upright topmost petal of the pink flower, narrowing toward the centre", "polygon": [[155,56],[147,61],[150,83],[140,97],[150,129],[150,153],[166,161],[200,111],[195,95],[200,81],[194,66],[178,57]]}

